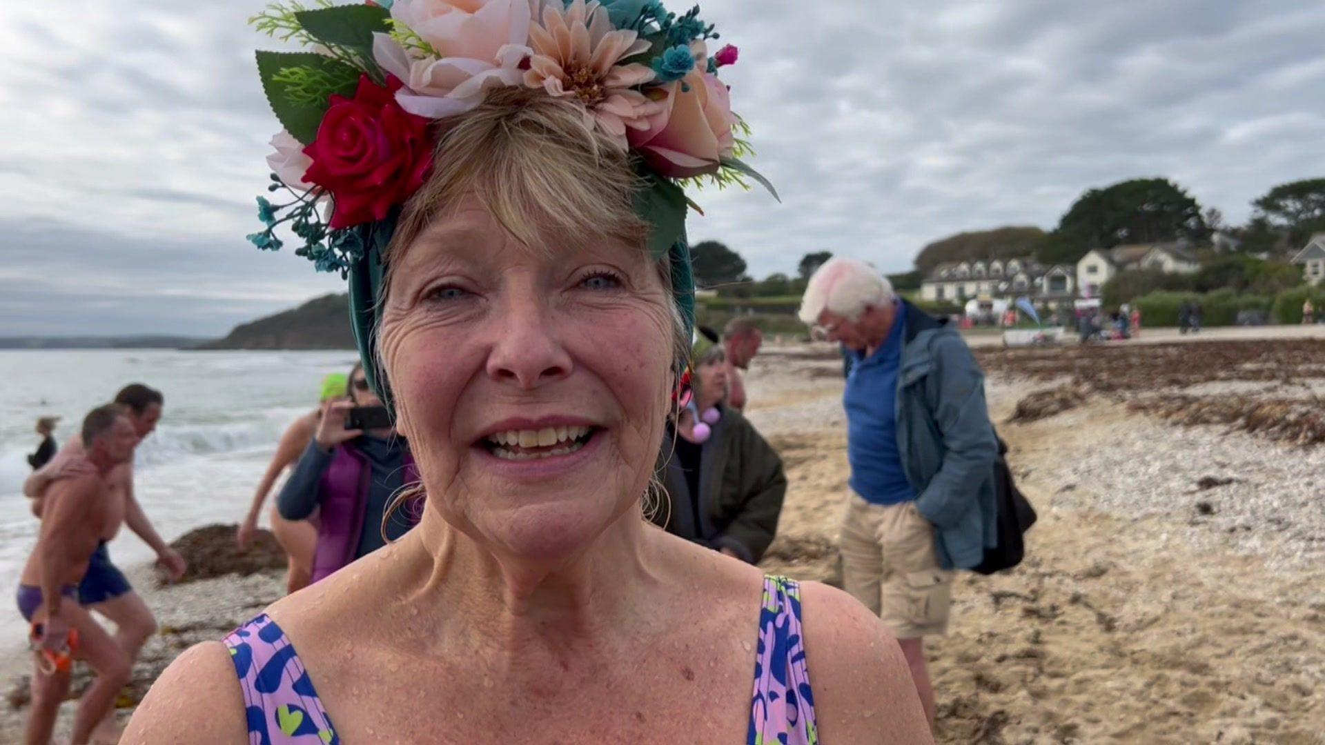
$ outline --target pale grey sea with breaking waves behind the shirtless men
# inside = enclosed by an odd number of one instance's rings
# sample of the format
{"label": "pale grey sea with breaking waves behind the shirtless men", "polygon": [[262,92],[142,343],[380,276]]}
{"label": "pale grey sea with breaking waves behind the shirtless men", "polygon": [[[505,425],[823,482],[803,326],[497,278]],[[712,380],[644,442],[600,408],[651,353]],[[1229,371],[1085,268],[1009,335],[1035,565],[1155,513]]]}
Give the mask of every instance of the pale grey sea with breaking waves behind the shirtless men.
{"label": "pale grey sea with breaking waves behind the shirtless men", "polygon": [[[56,430],[62,444],[87,411],[123,386],[162,391],[164,415],[138,447],[134,489],[172,541],[203,525],[238,524],[281,432],[317,406],[323,375],[348,372],[355,359],[352,351],[0,351],[0,591],[13,597],[37,541],[23,481],[30,473],[26,456],[40,443],[38,416],[62,418]],[[121,566],[154,558],[127,526],[110,553]],[[16,628],[21,616],[11,601],[0,608],[0,630]]]}

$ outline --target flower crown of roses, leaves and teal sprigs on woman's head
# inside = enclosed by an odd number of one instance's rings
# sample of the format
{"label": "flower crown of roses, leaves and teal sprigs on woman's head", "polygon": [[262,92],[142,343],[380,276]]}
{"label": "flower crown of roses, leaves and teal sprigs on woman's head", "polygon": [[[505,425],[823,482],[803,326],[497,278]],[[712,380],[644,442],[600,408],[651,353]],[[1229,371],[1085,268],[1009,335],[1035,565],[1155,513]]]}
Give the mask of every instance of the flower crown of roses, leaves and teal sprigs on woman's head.
{"label": "flower crown of roses, leaves and teal sprigs on woman's head", "polygon": [[717,77],[735,64],[737,48],[710,56],[718,34],[698,13],[669,13],[660,0],[268,7],[250,23],[307,50],[257,53],[285,127],[272,139],[268,191],[293,199],[260,196],[266,229],[248,240],[280,249],[276,227],[288,223],[303,241],[297,255],[347,276],[390,241],[400,207],[428,179],[432,122],[477,107],[493,89],[523,86],[579,105],[587,126],[629,151],[644,184],[635,205],[651,228],[649,251],[661,257],[684,247],[693,204],[685,180],[747,187],[750,178],[774,192],[739,159],[749,144],[738,134],[749,129]]}

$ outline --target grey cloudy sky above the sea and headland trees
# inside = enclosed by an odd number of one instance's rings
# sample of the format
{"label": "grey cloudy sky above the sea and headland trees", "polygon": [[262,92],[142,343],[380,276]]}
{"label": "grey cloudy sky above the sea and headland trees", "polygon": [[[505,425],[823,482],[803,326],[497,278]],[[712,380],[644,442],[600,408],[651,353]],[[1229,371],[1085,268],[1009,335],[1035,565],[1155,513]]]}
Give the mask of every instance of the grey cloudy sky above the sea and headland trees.
{"label": "grey cloudy sky above the sea and headland trees", "polygon": [[[337,290],[244,241],[278,129],[261,0],[0,5],[0,335],[223,334]],[[676,1],[673,9],[684,9]],[[694,240],[754,276],[828,249],[902,270],[928,241],[1052,225],[1169,176],[1242,221],[1325,175],[1325,5],[1236,0],[706,0],[782,192],[696,194]]]}

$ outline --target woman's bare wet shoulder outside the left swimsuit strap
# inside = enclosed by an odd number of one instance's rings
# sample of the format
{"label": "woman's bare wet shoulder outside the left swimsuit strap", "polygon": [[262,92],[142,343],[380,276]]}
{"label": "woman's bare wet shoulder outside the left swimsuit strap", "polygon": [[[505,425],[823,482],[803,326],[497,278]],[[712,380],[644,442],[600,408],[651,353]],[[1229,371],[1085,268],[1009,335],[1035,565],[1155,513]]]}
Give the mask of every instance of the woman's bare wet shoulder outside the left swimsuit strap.
{"label": "woman's bare wet shoulder outside the left swimsuit strap", "polygon": [[248,742],[248,720],[229,650],[191,647],[162,672],[138,705],[123,742]]}

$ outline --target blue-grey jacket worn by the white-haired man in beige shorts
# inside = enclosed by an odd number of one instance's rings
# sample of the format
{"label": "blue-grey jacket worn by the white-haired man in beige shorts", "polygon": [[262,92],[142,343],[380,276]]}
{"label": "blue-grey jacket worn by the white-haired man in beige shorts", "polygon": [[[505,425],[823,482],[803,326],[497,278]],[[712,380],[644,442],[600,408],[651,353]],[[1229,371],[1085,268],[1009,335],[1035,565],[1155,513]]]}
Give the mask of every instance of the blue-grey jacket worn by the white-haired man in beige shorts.
{"label": "blue-grey jacket worn by the white-haired man in beige shorts", "polygon": [[957,330],[910,302],[897,375],[897,447],[916,508],[934,524],[945,569],[970,569],[996,544],[998,437],[984,372]]}

